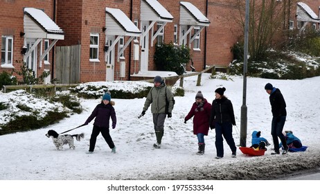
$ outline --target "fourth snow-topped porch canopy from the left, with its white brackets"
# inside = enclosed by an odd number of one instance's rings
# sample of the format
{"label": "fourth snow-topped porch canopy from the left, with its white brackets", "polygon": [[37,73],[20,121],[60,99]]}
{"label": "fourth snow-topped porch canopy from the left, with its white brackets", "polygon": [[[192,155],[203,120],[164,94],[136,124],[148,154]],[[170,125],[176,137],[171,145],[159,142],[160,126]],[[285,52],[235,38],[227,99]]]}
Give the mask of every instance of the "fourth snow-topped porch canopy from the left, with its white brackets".
{"label": "fourth snow-topped porch canopy from the left, with its white brackets", "polygon": [[203,30],[204,27],[209,26],[210,21],[206,16],[202,14],[202,12],[194,6],[192,3],[181,1],[180,2],[180,25],[188,26],[188,30],[186,33],[179,39],[179,45],[182,44],[183,39],[185,39],[195,28],[195,26],[199,26],[200,29],[197,31],[193,37],[190,37],[189,44],[193,42],[195,37],[199,35],[199,33]]}

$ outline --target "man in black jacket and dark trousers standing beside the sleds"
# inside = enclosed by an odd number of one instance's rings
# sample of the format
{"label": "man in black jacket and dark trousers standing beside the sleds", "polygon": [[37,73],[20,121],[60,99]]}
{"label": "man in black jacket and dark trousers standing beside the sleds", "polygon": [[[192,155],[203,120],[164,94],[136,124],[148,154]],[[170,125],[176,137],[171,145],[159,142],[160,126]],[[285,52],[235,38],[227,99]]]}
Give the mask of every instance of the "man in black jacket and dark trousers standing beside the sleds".
{"label": "man in black jacket and dark trousers standing beside the sleds", "polygon": [[285,107],[285,98],[281,94],[280,89],[273,87],[272,84],[267,83],[265,85],[265,91],[269,94],[269,100],[272,111],[272,125],[271,125],[271,134],[272,139],[274,140],[274,152],[272,155],[279,155],[279,141],[281,140],[283,145],[283,155],[285,155],[288,151],[287,141],[285,140],[285,136],[283,135],[283,126],[285,125],[285,118],[287,117],[287,110]]}

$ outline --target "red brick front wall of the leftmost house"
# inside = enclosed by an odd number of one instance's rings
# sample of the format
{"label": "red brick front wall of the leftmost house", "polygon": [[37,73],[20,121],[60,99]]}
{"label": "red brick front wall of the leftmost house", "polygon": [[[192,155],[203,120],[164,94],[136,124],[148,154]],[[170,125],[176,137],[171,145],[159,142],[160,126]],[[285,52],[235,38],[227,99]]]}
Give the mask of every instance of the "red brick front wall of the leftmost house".
{"label": "red brick front wall of the leftmost house", "polygon": [[[23,64],[23,55],[21,55],[21,48],[24,46],[24,37],[20,37],[20,32],[24,32],[24,8],[32,7],[44,10],[46,15],[53,18],[53,0],[42,1],[23,1],[23,0],[6,0],[0,2],[0,37],[2,35],[13,36],[13,67],[15,71],[21,71],[20,67]],[[0,47],[2,42],[0,41]],[[38,57],[39,57],[38,49]],[[1,55],[0,55],[1,58]],[[49,59],[52,60],[51,52]],[[41,76],[44,71],[44,64],[42,68],[37,69],[37,76]],[[51,68],[51,67],[48,67]],[[47,69],[47,68],[46,68]],[[11,73],[11,68],[1,68],[0,73],[7,71]],[[21,81],[21,76],[13,73]]]}

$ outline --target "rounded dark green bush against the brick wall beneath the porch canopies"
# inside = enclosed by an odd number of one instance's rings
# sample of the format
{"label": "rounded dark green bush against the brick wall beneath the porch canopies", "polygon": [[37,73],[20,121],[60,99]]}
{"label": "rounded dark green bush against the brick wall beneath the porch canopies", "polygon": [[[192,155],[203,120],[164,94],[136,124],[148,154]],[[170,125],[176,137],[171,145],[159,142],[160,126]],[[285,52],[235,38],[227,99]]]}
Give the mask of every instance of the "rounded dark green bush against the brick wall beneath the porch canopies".
{"label": "rounded dark green bush against the brick wall beneath the porch canopies", "polygon": [[184,66],[190,59],[190,48],[187,46],[175,46],[172,42],[156,45],[154,64],[158,71],[174,71],[182,75],[185,71]]}

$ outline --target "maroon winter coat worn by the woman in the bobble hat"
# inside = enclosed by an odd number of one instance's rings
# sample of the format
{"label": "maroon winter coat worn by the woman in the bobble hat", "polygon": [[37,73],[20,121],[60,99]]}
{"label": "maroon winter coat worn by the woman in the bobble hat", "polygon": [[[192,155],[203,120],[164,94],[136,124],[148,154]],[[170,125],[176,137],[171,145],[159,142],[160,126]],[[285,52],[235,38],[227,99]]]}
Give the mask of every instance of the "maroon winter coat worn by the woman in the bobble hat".
{"label": "maroon winter coat worn by the woman in the bobble hat", "polygon": [[208,135],[209,130],[209,118],[211,113],[211,104],[204,99],[202,106],[193,103],[193,106],[190,109],[190,112],[184,118],[184,121],[188,121],[193,116],[193,134],[202,133]]}

